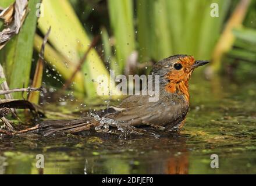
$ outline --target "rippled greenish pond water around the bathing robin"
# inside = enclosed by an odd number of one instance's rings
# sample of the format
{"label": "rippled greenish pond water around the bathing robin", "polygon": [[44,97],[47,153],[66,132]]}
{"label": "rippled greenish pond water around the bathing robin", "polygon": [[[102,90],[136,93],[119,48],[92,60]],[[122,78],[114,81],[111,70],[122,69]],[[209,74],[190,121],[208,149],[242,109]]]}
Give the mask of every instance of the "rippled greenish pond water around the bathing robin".
{"label": "rippled greenish pond water around the bathing robin", "polygon": [[[254,79],[209,81],[193,76],[191,109],[182,133],[159,139],[95,133],[0,135],[0,174],[256,174]],[[85,106],[81,103],[90,108],[91,101],[50,103],[45,108],[52,110],[51,115],[58,110],[69,115]],[[38,154],[44,155],[44,169],[35,166]],[[218,155],[218,169],[210,166],[212,154]]]}

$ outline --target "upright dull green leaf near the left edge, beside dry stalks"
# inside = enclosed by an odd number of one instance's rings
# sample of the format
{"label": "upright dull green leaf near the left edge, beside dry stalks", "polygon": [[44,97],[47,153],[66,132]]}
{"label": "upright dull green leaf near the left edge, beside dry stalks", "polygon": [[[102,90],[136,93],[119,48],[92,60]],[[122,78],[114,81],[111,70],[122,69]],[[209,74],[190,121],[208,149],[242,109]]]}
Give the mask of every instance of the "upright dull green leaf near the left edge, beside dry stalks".
{"label": "upright dull green leaf near the left edge, beside dry stalks", "polygon": [[[4,63],[10,88],[22,88],[29,85],[34,34],[38,18],[35,14],[37,3],[40,3],[40,0],[29,1],[30,12],[20,33],[12,38],[1,53],[5,56]],[[19,93],[15,93],[13,96],[22,98]]]}

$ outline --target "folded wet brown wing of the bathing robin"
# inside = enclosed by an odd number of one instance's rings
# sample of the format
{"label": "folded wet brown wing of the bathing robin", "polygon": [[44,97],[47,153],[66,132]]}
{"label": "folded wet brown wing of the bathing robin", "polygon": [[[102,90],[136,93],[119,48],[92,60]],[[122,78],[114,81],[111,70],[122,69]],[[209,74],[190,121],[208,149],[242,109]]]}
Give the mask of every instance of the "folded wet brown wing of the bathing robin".
{"label": "folded wet brown wing of the bathing robin", "polygon": [[184,120],[189,110],[189,105],[177,95],[160,96],[157,102],[149,102],[148,96],[130,96],[120,107],[125,109],[108,117],[133,126],[175,126]]}

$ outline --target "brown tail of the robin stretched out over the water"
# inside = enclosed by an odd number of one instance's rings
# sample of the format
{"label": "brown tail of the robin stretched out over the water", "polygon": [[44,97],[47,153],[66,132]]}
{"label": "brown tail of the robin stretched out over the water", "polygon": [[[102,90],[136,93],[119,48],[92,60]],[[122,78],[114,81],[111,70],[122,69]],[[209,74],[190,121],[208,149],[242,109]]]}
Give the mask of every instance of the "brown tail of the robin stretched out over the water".
{"label": "brown tail of the robin stretched out over the water", "polygon": [[39,124],[39,132],[42,135],[79,133],[84,130],[91,130],[97,126],[97,122],[91,117],[81,117],[73,120],[48,120]]}

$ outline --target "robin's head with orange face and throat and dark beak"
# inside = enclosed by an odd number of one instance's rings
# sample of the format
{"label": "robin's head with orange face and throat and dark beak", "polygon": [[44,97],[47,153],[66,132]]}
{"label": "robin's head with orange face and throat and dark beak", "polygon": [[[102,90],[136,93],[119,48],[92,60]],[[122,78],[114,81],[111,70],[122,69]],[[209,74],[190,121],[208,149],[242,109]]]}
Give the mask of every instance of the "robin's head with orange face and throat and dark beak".
{"label": "robin's head with orange face and throat and dark beak", "polygon": [[195,68],[209,63],[207,60],[195,60],[190,55],[175,55],[165,58],[153,67],[153,73],[160,76],[161,84],[170,93],[180,92],[189,99],[188,83]]}

